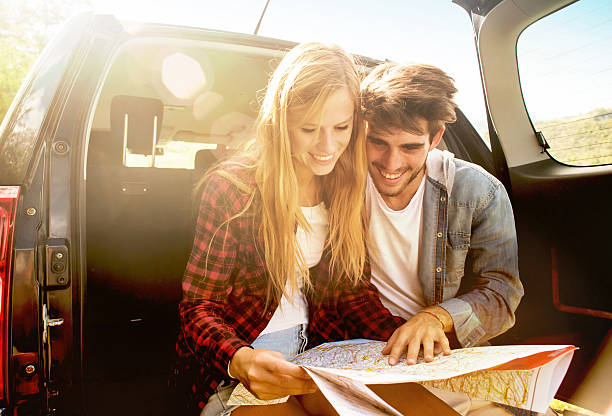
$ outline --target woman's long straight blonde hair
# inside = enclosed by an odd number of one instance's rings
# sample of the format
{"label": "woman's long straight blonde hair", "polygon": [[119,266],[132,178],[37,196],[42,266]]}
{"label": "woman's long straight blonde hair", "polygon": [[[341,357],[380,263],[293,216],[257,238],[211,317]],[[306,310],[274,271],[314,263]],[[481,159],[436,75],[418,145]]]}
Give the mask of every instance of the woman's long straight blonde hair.
{"label": "woman's long straight blonde hair", "polygon": [[[353,129],[333,171],[321,178],[322,198],[329,211],[326,248],[331,249],[332,279],[357,282],[362,276],[366,261],[362,216],[366,159],[359,82],[357,66],[342,48],[321,43],[296,46],[281,60],[268,83],[257,119],[255,145],[249,151],[253,163],[241,166],[253,169],[255,186],[249,188],[231,169],[222,173],[251,196],[249,204],[233,218],[244,214],[255,199],[260,201],[255,217],[261,219],[263,258],[270,277],[266,305],[287,295],[287,282],[291,292],[297,290],[300,276],[304,287],[311,287],[295,238],[298,225],[306,230],[310,227],[298,203],[287,112],[303,105],[311,106],[309,113],[321,112],[327,98],[340,88],[346,88],[354,101]],[[236,166],[236,162],[228,163]]]}

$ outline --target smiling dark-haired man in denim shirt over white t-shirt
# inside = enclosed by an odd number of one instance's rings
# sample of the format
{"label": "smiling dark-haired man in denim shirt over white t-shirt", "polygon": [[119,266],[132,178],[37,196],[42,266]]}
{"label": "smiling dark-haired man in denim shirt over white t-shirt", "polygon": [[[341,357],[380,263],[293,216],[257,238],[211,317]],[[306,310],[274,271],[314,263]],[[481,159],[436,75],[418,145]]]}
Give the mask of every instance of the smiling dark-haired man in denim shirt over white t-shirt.
{"label": "smiling dark-haired man in denim shirt over white t-shirt", "polygon": [[455,121],[453,80],[427,65],[387,63],[362,82],[368,122],[366,209],[372,282],[407,322],[383,353],[426,361],[514,324],[523,296],[512,207],[484,169],[436,149]]}

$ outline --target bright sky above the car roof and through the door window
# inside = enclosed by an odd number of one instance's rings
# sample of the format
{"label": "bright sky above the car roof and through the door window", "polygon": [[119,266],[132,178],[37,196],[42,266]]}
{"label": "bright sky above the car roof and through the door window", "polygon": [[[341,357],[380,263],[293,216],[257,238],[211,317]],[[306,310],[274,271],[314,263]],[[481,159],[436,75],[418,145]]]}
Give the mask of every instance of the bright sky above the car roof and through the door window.
{"label": "bright sky above the car roof and through the door window", "polygon": [[[265,0],[89,0],[120,19],[252,33]],[[171,6],[170,6],[171,4]],[[259,35],[325,41],[377,59],[436,65],[484,134],[486,115],[468,14],[451,0],[271,0]],[[527,28],[518,62],[526,105],[539,120],[612,108],[612,1],[581,0]]]}

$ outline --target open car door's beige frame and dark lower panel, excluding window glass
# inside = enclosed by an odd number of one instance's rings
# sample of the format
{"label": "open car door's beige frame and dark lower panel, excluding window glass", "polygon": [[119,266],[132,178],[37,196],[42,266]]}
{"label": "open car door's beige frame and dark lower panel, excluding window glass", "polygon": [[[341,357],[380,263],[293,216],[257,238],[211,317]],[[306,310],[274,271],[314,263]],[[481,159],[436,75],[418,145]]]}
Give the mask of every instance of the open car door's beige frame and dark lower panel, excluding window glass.
{"label": "open car door's beige frame and dark lower panel, excluding window glass", "polygon": [[[547,155],[525,107],[516,42],[525,27],[573,1],[455,2],[472,7],[495,172],[512,197],[525,287],[515,327],[495,342],[579,346],[557,394],[572,401],[612,334],[605,262],[612,253],[612,169],[568,166]],[[509,166],[520,159],[516,149],[540,160]]]}

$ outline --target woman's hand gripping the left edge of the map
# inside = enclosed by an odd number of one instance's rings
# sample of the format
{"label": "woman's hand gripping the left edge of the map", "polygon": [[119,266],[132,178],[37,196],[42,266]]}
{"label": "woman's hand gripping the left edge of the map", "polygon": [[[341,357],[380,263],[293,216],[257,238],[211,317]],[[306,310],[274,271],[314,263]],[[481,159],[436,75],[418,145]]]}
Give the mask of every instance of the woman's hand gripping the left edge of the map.
{"label": "woman's hand gripping the left edge of the map", "polygon": [[276,351],[242,347],[232,357],[230,373],[255,397],[272,400],[316,392],[308,373]]}

